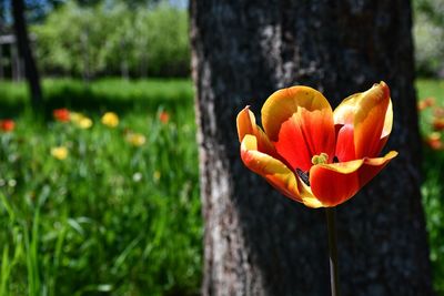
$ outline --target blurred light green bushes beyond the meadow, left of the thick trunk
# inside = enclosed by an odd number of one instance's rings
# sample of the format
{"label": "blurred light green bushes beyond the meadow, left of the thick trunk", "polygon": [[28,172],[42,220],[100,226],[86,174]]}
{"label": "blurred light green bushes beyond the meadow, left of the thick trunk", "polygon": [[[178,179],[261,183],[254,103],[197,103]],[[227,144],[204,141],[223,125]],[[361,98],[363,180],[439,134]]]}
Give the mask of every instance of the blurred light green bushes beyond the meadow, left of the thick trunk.
{"label": "blurred light green bushes beyond the meadow, left of the thick trunk", "polygon": [[138,6],[114,1],[79,6],[68,1],[34,25],[37,60],[47,74],[189,74],[186,11],[165,2]]}

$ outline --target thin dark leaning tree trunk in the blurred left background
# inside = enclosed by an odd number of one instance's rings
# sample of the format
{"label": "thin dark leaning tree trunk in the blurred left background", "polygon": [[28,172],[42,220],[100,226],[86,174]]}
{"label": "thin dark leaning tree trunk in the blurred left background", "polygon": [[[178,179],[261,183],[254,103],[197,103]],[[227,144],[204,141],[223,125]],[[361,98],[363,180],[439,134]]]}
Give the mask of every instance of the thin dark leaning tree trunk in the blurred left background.
{"label": "thin dark leaning tree trunk in the blurred left background", "polygon": [[24,3],[23,0],[12,0],[11,3],[12,14],[14,19],[17,45],[19,49],[19,54],[24,62],[24,73],[31,92],[32,105],[34,108],[40,108],[43,104],[42,92],[40,86],[39,72],[32,57],[32,51],[28,38],[27,23],[24,20]]}

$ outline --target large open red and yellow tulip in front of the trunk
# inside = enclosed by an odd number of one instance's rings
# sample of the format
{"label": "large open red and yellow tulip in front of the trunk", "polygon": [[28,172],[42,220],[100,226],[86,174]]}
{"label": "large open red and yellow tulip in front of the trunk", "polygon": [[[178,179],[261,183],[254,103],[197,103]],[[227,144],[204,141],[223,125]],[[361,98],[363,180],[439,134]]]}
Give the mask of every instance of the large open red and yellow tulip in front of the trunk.
{"label": "large open red and yellow tulip in front of the trunk", "polygon": [[377,157],[393,123],[384,82],[349,96],[334,112],[314,89],[279,90],[262,108],[264,131],[249,106],[236,123],[243,163],[310,207],[344,203],[397,155]]}

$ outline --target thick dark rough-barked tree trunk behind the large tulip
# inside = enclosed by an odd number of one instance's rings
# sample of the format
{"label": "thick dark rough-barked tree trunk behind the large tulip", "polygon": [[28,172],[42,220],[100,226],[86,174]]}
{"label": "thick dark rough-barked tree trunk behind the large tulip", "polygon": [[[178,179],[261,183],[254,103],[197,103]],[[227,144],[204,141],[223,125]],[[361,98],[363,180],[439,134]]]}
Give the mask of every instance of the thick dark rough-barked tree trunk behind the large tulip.
{"label": "thick dark rough-barked tree trunk behind the large tulip", "polygon": [[204,235],[203,295],[329,295],[324,211],[242,164],[236,113],[294,84],[333,105],[384,80],[400,152],[337,211],[343,295],[432,295],[420,195],[411,6],[404,0],[191,0]]}

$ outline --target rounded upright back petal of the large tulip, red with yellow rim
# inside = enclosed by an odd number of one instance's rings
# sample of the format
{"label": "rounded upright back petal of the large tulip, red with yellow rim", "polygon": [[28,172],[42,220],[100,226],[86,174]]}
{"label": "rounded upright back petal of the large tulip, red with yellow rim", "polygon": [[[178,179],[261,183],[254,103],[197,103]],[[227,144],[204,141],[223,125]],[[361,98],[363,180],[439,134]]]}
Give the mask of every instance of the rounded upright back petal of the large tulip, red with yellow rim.
{"label": "rounded upright back petal of the large tulip, red with yellow rim", "polygon": [[307,172],[312,157],[321,153],[333,160],[333,112],[319,91],[293,86],[274,92],[262,108],[262,124],[293,171]]}

